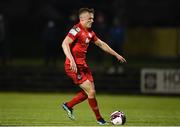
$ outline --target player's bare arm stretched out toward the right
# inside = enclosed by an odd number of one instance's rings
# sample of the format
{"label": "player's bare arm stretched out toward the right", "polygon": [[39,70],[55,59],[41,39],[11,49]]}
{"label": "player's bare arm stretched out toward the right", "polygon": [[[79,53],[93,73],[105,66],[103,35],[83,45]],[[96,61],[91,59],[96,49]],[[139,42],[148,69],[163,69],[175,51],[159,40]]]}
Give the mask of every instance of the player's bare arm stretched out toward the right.
{"label": "player's bare arm stretched out toward the right", "polygon": [[126,62],[126,59],[124,59],[121,55],[119,55],[118,53],[116,53],[111,47],[109,47],[104,41],[97,39],[95,41],[95,44],[100,47],[102,50],[104,50],[105,52],[115,56],[119,61]]}

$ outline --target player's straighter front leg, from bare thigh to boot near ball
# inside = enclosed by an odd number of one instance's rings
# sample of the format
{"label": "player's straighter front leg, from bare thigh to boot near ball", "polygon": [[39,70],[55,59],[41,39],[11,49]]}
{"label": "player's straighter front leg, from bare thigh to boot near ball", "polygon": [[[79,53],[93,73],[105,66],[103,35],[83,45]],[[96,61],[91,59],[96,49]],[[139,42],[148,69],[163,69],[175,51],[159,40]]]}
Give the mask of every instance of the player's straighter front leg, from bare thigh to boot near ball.
{"label": "player's straighter front leg, from bare thigh to boot near ball", "polygon": [[90,105],[92,111],[94,112],[98,123],[105,124],[106,121],[104,121],[104,119],[102,118],[102,116],[99,112],[98,103],[97,103],[97,100],[95,97],[96,91],[95,91],[94,83],[90,82],[87,79],[80,85],[80,87],[87,93],[89,105]]}

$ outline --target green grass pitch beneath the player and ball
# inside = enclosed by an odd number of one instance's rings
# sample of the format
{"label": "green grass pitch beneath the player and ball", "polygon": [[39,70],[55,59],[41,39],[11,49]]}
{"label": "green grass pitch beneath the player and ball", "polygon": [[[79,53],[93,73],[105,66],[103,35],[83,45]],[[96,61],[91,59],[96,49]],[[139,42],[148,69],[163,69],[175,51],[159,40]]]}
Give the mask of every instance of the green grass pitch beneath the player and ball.
{"label": "green grass pitch beneath the player and ball", "polygon": [[[73,94],[0,93],[0,125],[98,126],[87,101],[74,108],[76,120],[67,118],[59,105]],[[121,110],[127,126],[180,125],[180,97],[97,95],[105,119]]]}

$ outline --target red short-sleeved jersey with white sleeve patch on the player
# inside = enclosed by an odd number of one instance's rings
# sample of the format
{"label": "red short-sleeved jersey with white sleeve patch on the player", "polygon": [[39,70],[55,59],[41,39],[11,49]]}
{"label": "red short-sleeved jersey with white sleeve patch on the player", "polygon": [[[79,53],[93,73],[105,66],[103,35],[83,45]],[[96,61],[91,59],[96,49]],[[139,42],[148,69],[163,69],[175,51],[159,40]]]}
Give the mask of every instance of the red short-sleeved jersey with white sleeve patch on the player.
{"label": "red short-sleeved jersey with white sleeve patch on the player", "polygon": [[[86,30],[79,23],[69,31],[68,37],[74,42],[70,44],[70,50],[74,57],[74,60],[78,67],[87,67],[86,53],[90,42],[95,42],[98,38],[95,33],[88,29]],[[66,58],[65,64],[69,64],[70,61]]]}

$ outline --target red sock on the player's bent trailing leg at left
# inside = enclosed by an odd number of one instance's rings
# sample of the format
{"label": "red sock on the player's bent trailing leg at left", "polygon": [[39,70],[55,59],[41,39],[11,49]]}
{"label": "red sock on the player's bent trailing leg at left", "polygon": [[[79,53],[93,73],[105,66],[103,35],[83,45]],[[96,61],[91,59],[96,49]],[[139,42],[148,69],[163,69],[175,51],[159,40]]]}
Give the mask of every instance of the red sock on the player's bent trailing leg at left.
{"label": "red sock on the player's bent trailing leg at left", "polygon": [[75,97],[71,101],[67,102],[66,105],[69,108],[72,108],[74,105],[76,105],[76,104],[78,104],[78,103],[80,103],[86,99],[87,99],[86,93],[84,91],[80,91],[79,93],[77,93],[75,95]]}

